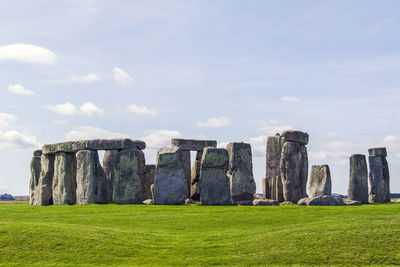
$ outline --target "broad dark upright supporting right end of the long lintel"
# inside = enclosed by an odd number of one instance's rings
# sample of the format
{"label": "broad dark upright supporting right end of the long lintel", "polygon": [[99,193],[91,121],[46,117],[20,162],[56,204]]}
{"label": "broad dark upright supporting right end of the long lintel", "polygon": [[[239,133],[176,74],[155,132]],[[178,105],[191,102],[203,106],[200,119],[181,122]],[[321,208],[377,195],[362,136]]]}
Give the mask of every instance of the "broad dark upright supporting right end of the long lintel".
{"label": "broad dark upright supporting right end of the long lintel", "polygon": [[141,204],[146,196],[143,151],[135,148],[118,152],[115,158],[112,202],[118,204]]}

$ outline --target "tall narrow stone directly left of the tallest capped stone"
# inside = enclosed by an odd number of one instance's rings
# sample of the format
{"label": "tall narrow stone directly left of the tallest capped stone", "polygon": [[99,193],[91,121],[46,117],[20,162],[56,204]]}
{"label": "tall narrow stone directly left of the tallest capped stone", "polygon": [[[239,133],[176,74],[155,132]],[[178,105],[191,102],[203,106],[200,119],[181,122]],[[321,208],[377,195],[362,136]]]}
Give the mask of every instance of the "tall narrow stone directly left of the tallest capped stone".
{"label": "tall narrow stone directly left of the tallest capped stone", "polygon": [[[277,196],[283,195],[283,191],[276,192],[277,189],[281,187],[276,187],[277,176],[281,175],[281,153],[282,153],[282,137],[279,134],[275,136],[269,136],[267,138],[267,153],[266,153],[266,178],[268,179],[268,197],[267,199],[277,199]],[[280,178],[279,178],[280,180]],[[275,185],[275,186],[274,186]],[[282,189],[283,190],[283,189]]]}

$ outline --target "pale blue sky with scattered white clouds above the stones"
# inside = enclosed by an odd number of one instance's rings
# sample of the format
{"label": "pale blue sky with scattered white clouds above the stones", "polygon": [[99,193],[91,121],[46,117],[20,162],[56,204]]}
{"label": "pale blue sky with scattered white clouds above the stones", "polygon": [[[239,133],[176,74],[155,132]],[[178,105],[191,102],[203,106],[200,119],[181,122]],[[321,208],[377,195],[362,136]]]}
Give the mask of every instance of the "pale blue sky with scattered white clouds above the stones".
{"label": "pale blue sky with scattered white clouds above the stones", "polygon": [[400,192],[400,1],[2,1],[0,193],[32,151],[91,138],[252,145],[308,132],[309,166],[346,194],[349,156],[385,146]]}

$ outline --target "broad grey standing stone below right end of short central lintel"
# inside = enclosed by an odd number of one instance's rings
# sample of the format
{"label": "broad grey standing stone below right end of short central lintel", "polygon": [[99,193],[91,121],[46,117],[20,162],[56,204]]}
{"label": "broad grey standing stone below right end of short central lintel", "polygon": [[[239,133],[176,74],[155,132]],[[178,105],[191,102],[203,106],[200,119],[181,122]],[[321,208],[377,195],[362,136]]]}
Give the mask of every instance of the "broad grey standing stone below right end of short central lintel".
{"label": "broad grey standing stone below right end of short central lintel", "polygon": [[198,184],[202,205],[232,204],[228,165],[229,155],[226,149],[204,149]]}

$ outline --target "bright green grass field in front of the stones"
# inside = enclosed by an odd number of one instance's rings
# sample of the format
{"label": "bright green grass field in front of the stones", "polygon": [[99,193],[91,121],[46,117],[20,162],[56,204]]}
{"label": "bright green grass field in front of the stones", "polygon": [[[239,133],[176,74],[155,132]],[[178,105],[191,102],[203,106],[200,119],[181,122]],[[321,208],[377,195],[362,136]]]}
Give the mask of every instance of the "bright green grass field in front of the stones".
{"label": "bright green grass field in front of the stones", "polygon": [[400,204],[0,204],[0,264],[400,264]]}

